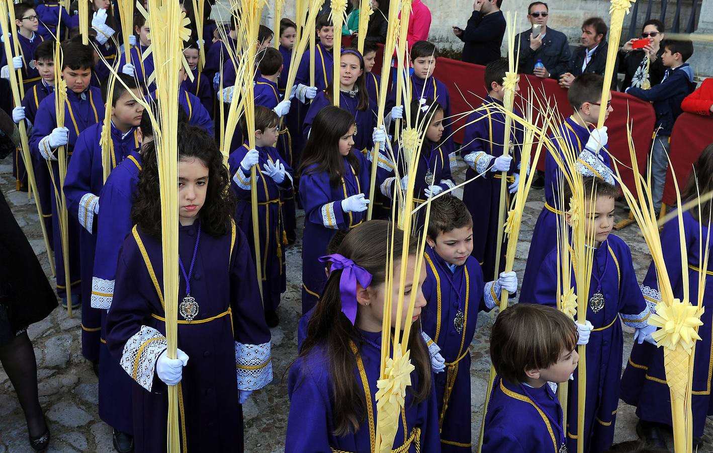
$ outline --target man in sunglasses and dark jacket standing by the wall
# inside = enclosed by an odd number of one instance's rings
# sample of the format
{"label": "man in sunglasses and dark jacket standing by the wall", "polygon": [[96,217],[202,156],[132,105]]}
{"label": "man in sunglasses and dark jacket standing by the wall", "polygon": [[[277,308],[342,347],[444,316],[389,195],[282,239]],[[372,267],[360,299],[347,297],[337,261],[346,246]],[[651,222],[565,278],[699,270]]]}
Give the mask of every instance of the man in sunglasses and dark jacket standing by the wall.
{"label": "man in sunglasses and dark jacket standing by the wall", "polygon": [[[565,34],[547,26],[548,19],[549,9],[545,2],[534,1],[528,6],[528,21],[533,24],[533,28],[518,35],[518,71],[540,78],[559,79],[568,71],[570,46]],[[535,68],[538,60],[542,61],[543,66]]]}

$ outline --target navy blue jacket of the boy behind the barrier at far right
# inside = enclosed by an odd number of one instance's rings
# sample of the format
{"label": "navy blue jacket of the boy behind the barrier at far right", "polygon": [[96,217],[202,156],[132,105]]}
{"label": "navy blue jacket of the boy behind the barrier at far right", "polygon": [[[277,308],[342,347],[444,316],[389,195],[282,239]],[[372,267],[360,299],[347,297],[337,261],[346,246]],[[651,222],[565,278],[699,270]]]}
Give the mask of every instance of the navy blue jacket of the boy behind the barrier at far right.
{"label": "navy blue jacket of the boy behind the barrier at far right", "polygon": [[629,88],[627,93],[654,104],[656,126],[659,135],[670,136],[673,123],[681,114],[681,102],[696,88],[693,81],[693,68],[688,63],[674,69],[667,69],[664,79],[648,90]]}

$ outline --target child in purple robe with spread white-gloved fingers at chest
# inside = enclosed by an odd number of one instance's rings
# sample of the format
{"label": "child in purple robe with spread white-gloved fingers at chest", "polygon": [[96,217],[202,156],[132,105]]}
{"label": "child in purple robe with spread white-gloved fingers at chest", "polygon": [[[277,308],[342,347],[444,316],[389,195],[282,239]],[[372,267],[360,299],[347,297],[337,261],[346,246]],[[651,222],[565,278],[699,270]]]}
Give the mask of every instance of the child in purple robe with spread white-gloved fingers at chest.
{"label": "child in purple robe with spread white-gloved fingers at chest", "polygon": [[[273,49],[275,50],[275,49]],[[277,52],[277,50],[275,50]],[[245,126],[244,122],[243,125]],[[257,215],[260,231],[260,256],[262,257],[262,307],[268,327],[279,324],[277,305],[279,297],[287,290],[284,245],[282,192],[292,187],[292,168],[280,161],[282,156],[273,146],[279,136],[279,116],[267,107],[255,106],[255,148],[247,143],[230,153],[228,166],[232,175],[232,188],[237,195],[235,221],[240,230],[253,238],[252,230],[252,177],[250,169],[257,165]],[[247,136],[247,126],[243,134]],[[250,250],[255,255],[255,243],[250,240]]]}

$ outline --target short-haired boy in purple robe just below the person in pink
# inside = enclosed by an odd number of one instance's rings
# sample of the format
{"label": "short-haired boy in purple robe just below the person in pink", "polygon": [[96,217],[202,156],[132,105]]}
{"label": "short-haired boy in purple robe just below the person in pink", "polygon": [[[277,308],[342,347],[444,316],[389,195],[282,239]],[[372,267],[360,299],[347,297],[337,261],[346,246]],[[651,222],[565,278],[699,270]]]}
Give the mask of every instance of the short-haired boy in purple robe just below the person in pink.
{"label": "short-haired boy in purple robe just below the person in pink", "polygon": [[[453,151],[453,127],[451,126],[451,96],[448,94],[448,88],[434,77],[436,70],[436,58],[438,58],[438,49],[429,41],[417,41],[411,47],[411,66],[414,68],[414,73],[409,76],[406,83],[411,92],[411,101],[418,99],[433,99],[441,104],[443,108],[443,118],[447,118],[443,122],[445,128],[444,136],[448,152]],[[403,102],[403,100],[402,100]],[[429,104],[430,105],[430,104]],[[386,101],[386,111],[389,113],[389,121],[404,117],[404,106],[396,106],[396,90],[391,90],[389,98]]]}

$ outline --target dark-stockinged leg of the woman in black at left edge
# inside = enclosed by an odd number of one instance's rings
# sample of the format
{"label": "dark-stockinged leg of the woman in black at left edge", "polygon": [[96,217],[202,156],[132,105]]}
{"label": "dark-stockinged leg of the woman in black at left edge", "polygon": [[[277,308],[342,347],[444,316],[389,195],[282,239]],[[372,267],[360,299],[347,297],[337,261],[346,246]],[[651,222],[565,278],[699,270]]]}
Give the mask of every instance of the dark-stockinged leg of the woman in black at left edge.
{"label": "dark-stockinged leg of the woman in black at left edge", "polygon": [[41,436],[47,425],[37,396],[35,351],[27,332],[18,335],[6,345],[0,345],[0,362],[15,387],[17,399],[25,412],[30,437]]}

